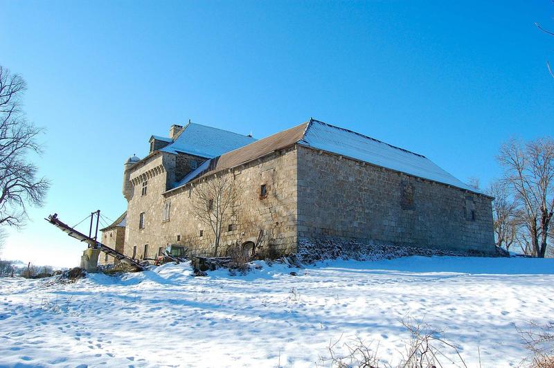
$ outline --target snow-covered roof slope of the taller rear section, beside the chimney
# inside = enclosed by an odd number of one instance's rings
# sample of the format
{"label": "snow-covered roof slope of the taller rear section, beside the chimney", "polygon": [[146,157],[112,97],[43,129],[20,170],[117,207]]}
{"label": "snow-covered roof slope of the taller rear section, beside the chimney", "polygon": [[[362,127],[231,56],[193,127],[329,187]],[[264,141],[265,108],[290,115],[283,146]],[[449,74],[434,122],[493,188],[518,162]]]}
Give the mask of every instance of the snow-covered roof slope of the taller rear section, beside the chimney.
{"label": "snow-covered roof slope of the taller rear section, beside the chimney", "polygon": [[181,134],[160,151],[171,154],[183,152],[213,158],[255,141],[256,139],[250,136],[189,122],[183,128]]}

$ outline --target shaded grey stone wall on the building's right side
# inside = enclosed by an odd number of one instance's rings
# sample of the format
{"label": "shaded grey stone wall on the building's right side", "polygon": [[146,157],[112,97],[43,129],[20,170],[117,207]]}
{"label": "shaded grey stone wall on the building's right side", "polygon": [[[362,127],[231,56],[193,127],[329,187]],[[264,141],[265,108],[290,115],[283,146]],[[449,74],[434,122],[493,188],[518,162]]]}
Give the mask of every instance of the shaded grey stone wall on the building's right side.
{"label": "shaded grey stone wall on the building's right side", "polygon": [[298,147],[298,236],[494,252],[491,199]]}

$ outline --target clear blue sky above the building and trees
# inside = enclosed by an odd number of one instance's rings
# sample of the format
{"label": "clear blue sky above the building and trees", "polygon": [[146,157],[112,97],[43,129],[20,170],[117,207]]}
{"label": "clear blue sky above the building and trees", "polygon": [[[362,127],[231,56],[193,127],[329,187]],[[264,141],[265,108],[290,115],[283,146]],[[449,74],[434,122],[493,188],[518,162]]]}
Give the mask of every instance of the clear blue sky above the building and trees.
{"label": "clear blue sky above the building and trees", "polygon": [[126,208],[123,162],[188,119],[262,138],[310,117],[486,186],[511,136],[554,132],[554,5],[533,1],[5,1],[0,64],[46,127],[44,208],[3,257],[75,266],[43,220]]}

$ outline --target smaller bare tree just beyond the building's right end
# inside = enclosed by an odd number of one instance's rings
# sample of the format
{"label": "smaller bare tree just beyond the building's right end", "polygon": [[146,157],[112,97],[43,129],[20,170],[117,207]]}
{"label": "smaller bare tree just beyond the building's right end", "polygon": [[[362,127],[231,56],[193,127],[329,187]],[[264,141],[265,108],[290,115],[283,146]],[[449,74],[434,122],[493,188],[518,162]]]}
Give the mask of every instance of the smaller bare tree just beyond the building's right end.
{"label": "smaller bare tree just beyond the building's right end", "polygon": [[497,246],[510,250],[510,246],[516,240],[520,214],[518,203],[510,196],[504,181],[494,181],[487,193],[494,197],[492,202],[492,217],[494,221],[494,235],[497,238]]}

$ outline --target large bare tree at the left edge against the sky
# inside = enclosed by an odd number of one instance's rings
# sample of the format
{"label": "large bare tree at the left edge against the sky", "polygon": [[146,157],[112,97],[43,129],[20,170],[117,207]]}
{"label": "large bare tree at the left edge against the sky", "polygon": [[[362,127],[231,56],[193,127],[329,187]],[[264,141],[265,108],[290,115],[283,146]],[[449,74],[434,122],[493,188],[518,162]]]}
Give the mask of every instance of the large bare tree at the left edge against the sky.
{"label": "large bare tree at the left edge against the sky", "polygon": [[0,225],[5,226],[24,225],[27,205],[42,205],[49,187],[28,160],[28,154],[41,153],[37,136],[43,130],[21,110],[25,91],[23,78],[0,66]]}

